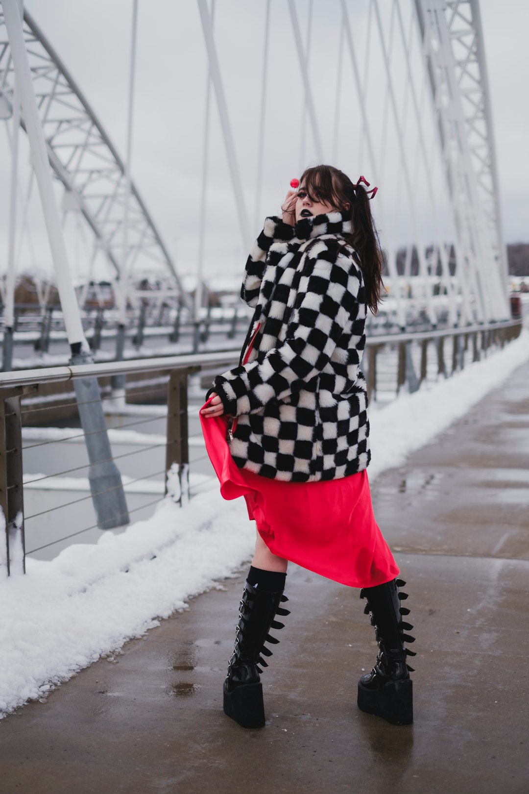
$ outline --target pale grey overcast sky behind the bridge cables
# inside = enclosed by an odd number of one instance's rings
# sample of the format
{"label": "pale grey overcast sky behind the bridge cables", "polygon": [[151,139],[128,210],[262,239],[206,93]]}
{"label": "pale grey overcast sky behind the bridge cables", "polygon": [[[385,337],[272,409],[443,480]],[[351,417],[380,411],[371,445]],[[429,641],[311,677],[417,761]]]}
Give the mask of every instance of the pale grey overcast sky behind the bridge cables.
{"label": "pale grey overcast sky behind the bridge cables", "polygon": [[[412,0],[401,0],[408,35]],[[79,83],[102,125],[125,154],[125,119],[128,90],[131,0],[26,0],[26,6]],[[311,82],[324,143],[324,158],[332,160],[336,74],[339,48],[338,0],[314,0],[311,40]],[[385,25],[390,0],[380,0]],[[251,233],[258,216],[279,210],[289,180],[306,164],[317,162],[309,126],[305,151],[301,145],[303,91],[286,0],[272,0],[270,66],[266,93],[266,145],[263,197],[255,208],[256,151],[259,124],[260,82],[263,63],[264,0],[217,0],[215,35],[228,99],[236,151],[243,175]],[[303,35],[309,0],[297,0]],[[367,0],[348,0],[355,48],[360,64],[365,58]],[[500,171],[501,206],[506,241],[529,240],[529,159],[527,157],[527,79],[529,78],[529,3],[527,0],[481,0],[485,54],[489,69],[496,155]],[[389,35],[389,27],[386,27]],[[412,50],[416,33],[411,31]],[[376,35],[370,56],[366,97],[374,130],[379,186],[385,191],[378,202],[381,235],[402,245],[413,235],[409,206],[402,187],[401,155],[395,127],[386,102],[385,82]],[[361,114],[350,61],[343,60],[343,83],[338,148],[335,164],[357,179],[370,178],[369,156],[362,145]],[[394,44],[393,72],[397,101],[404,102],[404,59]],[[416,71],[420,71],[415,61]],[[192,272],[197,259],[200,207],[201,149],[205,115],[206,54],[197,3],[194,0],[140,0],[137,50],[137,83],[134,117],[132,174],[151,214],[178,260],[181,272]],[[420,79],[417,79],[420,87]],[[427,97],[426,97],[427,100]],[[425,101],[426,101],[425,100]],[[408,125],[409,126],[409,125]],[[432,149],[435,139],[427,137]],[[408,151],[416,147],[412,126],[406,131]],[[9,190],[6,136],[0,137],[0,245],[6,247],[6,208]],[[246,252],[229,179],[217,107],[212,103],[206,272],[240,272]],[[412,162],[412,157],[410,162]],[[432,154],[431,173],[446,198],[439,164]],[[423,200],[424,168],[413,166],[416,180],[417,235],[425,243],[433,235],[431,212]],[[421,192],[423,191],[423,192]],[[379,198],[379,197],[377,197]],[[375,203],[374,202],[374,208]],[[383,210],[383,213],[382,213]],[[443,233],[450,236],[450,218]],[[3,220],[2,220],[3,218]],[[39,264],[49,261],[38,213],[32,216]],[[29,253],[22,265],[29,264]],[[0,256],[0,262],[4,256]],[[3,267],[2,267],[3,269]]]}

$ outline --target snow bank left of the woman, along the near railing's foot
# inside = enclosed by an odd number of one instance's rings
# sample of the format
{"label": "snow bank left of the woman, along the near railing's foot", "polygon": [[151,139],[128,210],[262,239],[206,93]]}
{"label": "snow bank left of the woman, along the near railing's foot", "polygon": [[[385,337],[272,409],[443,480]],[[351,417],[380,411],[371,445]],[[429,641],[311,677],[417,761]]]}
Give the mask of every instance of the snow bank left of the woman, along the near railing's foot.
{"label": "snow bank left of the woman, along the near railing's foot", "polygon": [[148,521],[71,545],[0,583],[0,716],[42,699],[102,654],[138,637],[243,564],[255,530],[242,500],[217,489]]}

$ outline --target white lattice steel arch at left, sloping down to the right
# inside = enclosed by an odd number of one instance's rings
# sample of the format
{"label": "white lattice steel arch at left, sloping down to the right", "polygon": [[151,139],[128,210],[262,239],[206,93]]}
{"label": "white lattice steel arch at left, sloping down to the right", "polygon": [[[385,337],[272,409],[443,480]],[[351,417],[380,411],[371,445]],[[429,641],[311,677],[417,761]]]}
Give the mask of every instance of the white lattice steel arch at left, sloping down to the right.
{"label": "white lattice steel arch at left, sloping down to the right", "polygon": [[[125,164],[67,67],[27,10],[23,32],[49,161],[65,189],[63,210],[78,210],[86,219],[94,233],[94,256],[98,249],[105,253],[111,278],[118,283],[124,261]],[[0,13],[0,116],[4,118],[13,114],[14,76]],[[25,129],[23,118],[21,126]],[[164,296],[172,295],[189,303],[171,255],[134,183],[128,198],[125,263],[126,295],[133,297],[132,283],[139,278],[138,272],[147,276],[161,272],[167,280]]]}

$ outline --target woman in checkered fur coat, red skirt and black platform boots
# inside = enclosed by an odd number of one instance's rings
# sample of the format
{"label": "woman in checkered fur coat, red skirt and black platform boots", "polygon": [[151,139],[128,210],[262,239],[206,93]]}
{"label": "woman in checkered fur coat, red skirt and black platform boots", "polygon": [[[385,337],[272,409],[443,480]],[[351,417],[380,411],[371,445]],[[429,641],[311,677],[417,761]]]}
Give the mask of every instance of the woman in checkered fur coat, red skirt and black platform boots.
{"label": "woman in checkered fur coat, red skirt and black platform boots", "polygon": [[255,307],[240,366],[213,381],[201,409],[206,447],[226,499],[244,495],[257,542],[224,681],[224,711],[265,723],[259,665],[277,643],[288,561],[367,598],[379,645],[358,682],[358,706],[412,722],[404,649],[408,596],[373,515],[366,381],[359,368],[367,306],[378,309],[381,251],[361,177],[308,168],[282,218],[266,218],[241,296]]}

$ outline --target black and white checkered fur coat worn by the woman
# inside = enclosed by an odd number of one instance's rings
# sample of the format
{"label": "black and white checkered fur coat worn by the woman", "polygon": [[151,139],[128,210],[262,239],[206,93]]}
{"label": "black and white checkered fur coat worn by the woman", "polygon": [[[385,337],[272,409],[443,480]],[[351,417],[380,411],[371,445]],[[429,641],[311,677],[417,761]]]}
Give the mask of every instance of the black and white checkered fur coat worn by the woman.
{"label": "black and white checkered fur coat worn by the woman", "polygon": [[340,212],[295,226],[266,218],[255,241],[241,290],[255,314],[240,366],[209,391],[237,418],[229,448],[240,468],[313,482],[370,462],[359,368],[366,297],[358,255],[342,237],[350,231]]}

